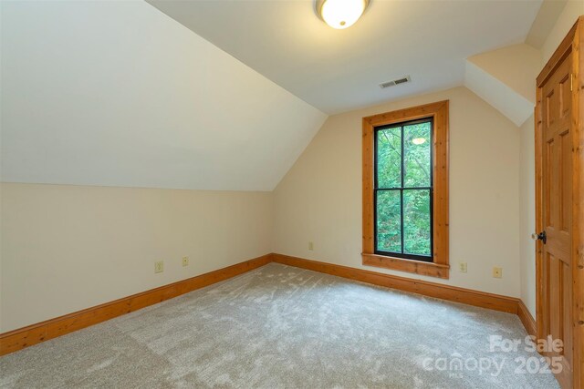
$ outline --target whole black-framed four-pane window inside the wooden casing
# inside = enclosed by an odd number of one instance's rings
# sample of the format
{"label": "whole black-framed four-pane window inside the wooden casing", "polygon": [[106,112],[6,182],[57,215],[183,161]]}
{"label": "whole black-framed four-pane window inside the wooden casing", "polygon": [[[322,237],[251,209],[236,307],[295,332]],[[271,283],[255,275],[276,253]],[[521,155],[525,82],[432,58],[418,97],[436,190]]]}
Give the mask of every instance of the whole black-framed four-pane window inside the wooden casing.
{"label": "whole black-framed four-pane window inside the wooden casing", "polygon": [[433,118],[374,128],[374,250],[433,261]]}

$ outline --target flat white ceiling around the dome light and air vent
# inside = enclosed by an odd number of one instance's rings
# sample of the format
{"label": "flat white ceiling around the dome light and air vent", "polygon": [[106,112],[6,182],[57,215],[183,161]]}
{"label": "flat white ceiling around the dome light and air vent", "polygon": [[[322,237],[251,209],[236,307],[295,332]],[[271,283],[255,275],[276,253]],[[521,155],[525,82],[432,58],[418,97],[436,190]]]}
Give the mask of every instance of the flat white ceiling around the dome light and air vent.
{"label": "flat white ceiling around the dome light and air vent", "polygon": [[[311,0],[147,1],[328,114],[463,85],[464,58],[524,42],[541,5],[372,0],[335,30]],[[405,75],[412,84],[378,86]]]}

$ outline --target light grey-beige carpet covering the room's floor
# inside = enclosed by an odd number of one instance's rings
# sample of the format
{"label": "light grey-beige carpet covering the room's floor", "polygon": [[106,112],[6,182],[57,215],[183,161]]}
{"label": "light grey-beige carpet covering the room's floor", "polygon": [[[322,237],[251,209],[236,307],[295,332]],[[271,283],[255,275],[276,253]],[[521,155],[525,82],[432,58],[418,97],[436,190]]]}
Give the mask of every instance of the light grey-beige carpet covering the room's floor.
{"label": "light grey-beige carpet covering the room's floor", "polygon": [[513,314],[270,263],[6,355],[0,386],[558,387],[491,335],[527,333]]}

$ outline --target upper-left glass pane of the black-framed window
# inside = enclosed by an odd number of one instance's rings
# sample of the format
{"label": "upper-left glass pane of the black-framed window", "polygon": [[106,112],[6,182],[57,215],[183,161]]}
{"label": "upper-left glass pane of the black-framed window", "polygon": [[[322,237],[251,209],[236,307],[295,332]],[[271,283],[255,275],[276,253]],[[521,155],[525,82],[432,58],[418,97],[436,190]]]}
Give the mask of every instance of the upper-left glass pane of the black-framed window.
{"label": "upper-left glass pane of the black-framed window", "polygon": [[380,129],[376,134],[378,188],[400,188],[401,127]]}

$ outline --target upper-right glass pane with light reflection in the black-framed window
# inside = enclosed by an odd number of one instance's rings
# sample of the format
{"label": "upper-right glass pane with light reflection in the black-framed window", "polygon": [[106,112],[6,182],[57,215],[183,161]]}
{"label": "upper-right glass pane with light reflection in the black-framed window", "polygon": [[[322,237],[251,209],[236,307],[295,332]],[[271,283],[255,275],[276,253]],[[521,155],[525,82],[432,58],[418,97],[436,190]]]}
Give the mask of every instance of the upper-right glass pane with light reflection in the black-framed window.
{"label": "upper-right glass pane with light reflection in the black-framed window", "polygon": [[403,186],[429,187],[432,161],[432,125],[430,122],[403,127]]}

